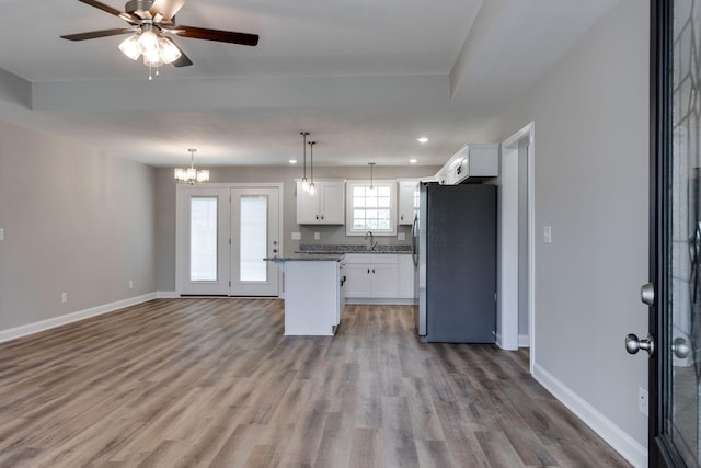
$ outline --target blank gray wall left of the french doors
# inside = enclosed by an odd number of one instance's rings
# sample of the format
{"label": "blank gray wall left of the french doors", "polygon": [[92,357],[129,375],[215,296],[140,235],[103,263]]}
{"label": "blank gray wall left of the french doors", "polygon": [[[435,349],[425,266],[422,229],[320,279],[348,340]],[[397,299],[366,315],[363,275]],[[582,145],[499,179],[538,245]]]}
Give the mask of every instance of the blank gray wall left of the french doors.
{"label": "blank gray wall left of the french doors", "polygon": [[0,121],[0,332],[152,294],[153,186],[148,165]]}

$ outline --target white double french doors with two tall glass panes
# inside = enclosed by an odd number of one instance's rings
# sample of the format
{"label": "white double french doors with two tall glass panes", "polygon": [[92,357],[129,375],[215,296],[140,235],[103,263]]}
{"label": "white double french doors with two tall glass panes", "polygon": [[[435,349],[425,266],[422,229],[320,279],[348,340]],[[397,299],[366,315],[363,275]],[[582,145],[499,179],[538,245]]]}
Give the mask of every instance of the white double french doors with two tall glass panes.
{"label": "white double french doors with two tall glass panes", "polygon": [[278,186],[180,185],[181,295],[278,296]]}

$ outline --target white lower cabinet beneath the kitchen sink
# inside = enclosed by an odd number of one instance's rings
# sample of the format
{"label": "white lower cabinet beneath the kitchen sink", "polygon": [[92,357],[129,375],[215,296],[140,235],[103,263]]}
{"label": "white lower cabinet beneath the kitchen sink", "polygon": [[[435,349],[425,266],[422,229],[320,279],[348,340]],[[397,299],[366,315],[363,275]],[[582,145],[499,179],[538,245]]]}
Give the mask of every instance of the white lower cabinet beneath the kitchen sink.
{"label": "white lower cabinet beneath the kitchen sink", "polygon": [[[411,299],[414,295],[414,277],[407,282],[406,267],[411,255],[395,253],[347,253],[346,298],[350,299]],[[413,271],[413,263],[412,263]],[[405,300],[404,300],[405,301]]]}

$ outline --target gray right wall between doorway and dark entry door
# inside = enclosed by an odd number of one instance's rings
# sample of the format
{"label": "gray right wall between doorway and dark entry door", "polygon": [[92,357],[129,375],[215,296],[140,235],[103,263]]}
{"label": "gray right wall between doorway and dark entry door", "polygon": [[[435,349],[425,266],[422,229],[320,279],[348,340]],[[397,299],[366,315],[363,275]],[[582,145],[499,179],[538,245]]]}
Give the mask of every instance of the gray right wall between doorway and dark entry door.
{"label": "gray right wall between doorway and dark entry door", "polygon": [[536,376],[642,447],[647,359],[623,338],[647,331],[648,9],[621,0],[481,135],[504,141],[535,122]]}

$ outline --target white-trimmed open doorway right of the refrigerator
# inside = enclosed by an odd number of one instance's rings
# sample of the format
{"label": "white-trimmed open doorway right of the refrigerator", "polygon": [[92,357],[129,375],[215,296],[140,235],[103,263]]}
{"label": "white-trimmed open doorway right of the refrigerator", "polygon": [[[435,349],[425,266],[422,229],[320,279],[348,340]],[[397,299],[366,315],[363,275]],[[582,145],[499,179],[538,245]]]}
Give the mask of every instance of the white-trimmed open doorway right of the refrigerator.
{"label": "white-trimmed open doorway right of the refrigerator", "polygon": [[531,347],[533,363],[535,123],[502,144],[499,193],[499,307],[497,344]]}

